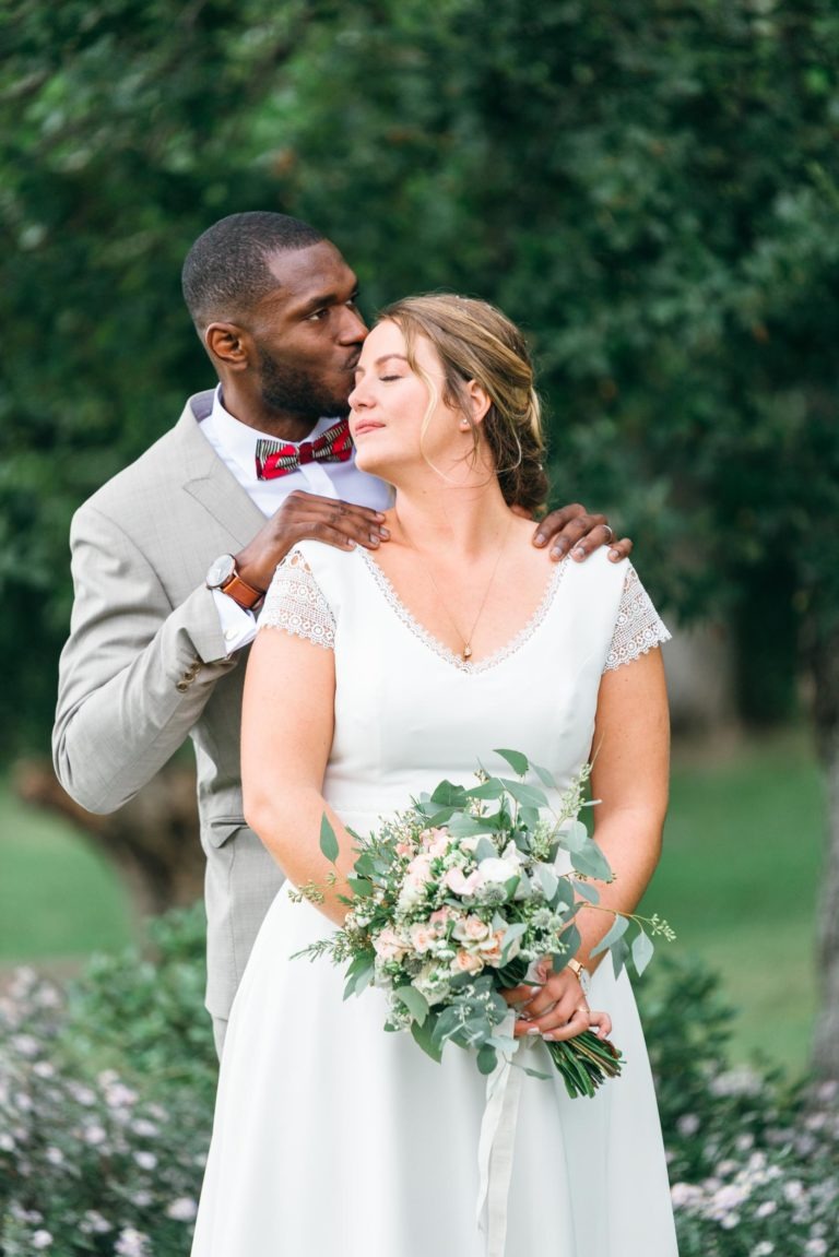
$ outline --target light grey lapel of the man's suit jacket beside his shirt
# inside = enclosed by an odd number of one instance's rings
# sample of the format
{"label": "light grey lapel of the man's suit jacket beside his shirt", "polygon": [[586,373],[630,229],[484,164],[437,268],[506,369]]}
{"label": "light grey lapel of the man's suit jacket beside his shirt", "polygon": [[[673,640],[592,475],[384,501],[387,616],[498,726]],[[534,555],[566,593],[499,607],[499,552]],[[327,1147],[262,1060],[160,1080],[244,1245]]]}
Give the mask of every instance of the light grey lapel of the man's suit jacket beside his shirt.
{"label": "light grey lapel of the man's suit jacket beside his shirt", "polygon": [[211,406],[213,392],[190,397],[175,429],[184,458],[184,490],[242,547],[253,541],[265,517],[201,435],[199,421]]}

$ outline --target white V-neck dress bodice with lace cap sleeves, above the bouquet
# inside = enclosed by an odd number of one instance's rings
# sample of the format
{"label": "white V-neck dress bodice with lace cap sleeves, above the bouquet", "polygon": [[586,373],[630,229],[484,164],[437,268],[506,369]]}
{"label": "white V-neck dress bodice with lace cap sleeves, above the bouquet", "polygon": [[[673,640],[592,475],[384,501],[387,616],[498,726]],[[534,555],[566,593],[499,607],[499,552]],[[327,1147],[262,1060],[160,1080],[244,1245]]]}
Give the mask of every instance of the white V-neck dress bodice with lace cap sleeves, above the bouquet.
{"label": "white V-neck dress bodice with lace cap sleeves, above the bouquet", "polygon": [[479,763],[508,772],[498,747],[550,768],[562,788],[589,758],[603,672],[668,637],[631,566],[599,551],[558,563],[531,620],[473,664],[414,620],[369,552],[318,542],[283,561],[260,626],[335,651],[323,793],[356,827],[443,778],[472,783]]}

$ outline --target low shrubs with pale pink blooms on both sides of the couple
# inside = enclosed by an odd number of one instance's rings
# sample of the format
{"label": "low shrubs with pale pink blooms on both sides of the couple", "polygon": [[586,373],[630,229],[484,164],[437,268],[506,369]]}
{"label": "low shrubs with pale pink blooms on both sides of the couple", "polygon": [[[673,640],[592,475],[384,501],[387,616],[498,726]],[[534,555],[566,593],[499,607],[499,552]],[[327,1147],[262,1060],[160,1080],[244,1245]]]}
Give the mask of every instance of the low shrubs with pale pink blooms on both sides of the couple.
{"label": "low shrubs with pale pink blooms on both sides of the couple", "polygon": [[[0,1001],[0,1257],[189,1249],[215,1086],[203,913],[161,918],[150,941],[67,991],[20,970]],[[828,1257],[836,1089],[732,1070],[716,979],[658,968],[639,1003],[682,1257]]]}

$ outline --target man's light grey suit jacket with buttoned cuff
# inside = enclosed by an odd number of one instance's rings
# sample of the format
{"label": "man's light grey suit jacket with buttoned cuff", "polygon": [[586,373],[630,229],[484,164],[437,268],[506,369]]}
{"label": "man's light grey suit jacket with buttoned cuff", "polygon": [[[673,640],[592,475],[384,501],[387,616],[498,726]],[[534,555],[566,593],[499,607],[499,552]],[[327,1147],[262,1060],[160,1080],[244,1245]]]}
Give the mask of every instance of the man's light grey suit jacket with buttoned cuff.
{"label": "man's light grey suit jacket with buttoned cuff", "polygon": [[190,397],[177,425],[73,519],[75,601],[53,754],[73,798],[111,812],[192,739],[208,857],[206,1004],[226,1017],[282,874],[242,813],[247,650],[228,657],[204,586],[210,562],[247,546],[265,518],[201,435],[211,406],[211,391]]}

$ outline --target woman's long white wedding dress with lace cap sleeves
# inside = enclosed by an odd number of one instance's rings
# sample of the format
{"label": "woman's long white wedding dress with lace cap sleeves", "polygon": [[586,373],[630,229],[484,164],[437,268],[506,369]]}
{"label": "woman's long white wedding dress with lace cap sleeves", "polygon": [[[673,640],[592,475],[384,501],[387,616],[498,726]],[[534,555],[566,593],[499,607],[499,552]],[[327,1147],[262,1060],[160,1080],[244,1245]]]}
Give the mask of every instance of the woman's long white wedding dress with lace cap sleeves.
{"label": "woman's long white wedding dress with lace cap sleeves", "polygon": [[[297,547],[262,625],[335,650],[325,796],[360,832],[443,778],[474,783],[478,760],[508,773],[497,747],[566,783],[590,753],[603,671],[668,637],[633,568],[605,551],[560,563],[530,623],[477,664],[416,623],[364,549]],[[192,1257],[483,1257],[486,1079],[453,1045],[436,1065],[385,1033],[380,991],[345,1003],[340,969],[291,959],[332,928],[286,887],[262,926],[230,1018]],[[675,1257],[642,1027],[609,962],[590,1004],[610,1012],[624,1072],[576,1100],[558,1075],[521,1073],[506,1257]]]}

